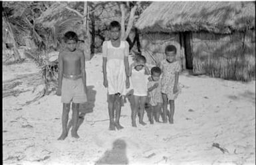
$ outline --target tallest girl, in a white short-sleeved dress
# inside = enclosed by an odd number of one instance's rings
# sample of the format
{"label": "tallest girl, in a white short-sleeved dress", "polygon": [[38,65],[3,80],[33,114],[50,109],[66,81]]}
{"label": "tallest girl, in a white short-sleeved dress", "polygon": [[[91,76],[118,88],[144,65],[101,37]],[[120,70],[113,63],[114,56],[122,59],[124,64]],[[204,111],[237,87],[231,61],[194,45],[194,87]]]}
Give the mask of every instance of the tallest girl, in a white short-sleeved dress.
{"label": "tallest girl, in a white short-sleeved dress", "polygon": [[[111,40],[102,44],[104,87],[108,87],[108,115],[110,117],[109,130],[123,129],[119,123],[122,95],[128,87],[128,54],[129,44],[120,40],[121,26],[117,21],[110,23]],[[114,121],[114,111],[116,120]]]}

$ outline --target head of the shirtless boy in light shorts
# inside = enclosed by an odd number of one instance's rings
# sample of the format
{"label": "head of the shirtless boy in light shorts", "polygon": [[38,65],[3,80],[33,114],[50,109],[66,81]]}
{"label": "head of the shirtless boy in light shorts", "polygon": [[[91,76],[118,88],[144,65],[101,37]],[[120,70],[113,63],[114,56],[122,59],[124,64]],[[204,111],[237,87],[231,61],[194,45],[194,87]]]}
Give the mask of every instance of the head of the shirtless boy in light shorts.
{"label": "head of the shirtless boy in light shorts", "polygon": [[76,50],[76,45],[78,42],[78,36],[75,32],[68,31],[64,34],[64,42],[66,43],[66,48],[68,48],[69,51]]}

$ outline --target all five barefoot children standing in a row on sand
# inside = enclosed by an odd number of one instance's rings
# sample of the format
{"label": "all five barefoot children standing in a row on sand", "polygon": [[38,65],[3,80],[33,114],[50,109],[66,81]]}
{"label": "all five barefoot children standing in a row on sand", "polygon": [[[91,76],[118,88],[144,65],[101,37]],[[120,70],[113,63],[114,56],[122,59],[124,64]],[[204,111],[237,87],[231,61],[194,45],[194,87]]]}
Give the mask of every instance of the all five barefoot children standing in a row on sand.
{"label": "all five barefoot children standing in a row on sand", "polygon": [[[110,40],[102,44],[103,85],[108,89],[109,130],[123,129],[120,125],[120,113],[124,96],[129,95],[132,109],[132,127],[136,127],[136,116],[139,123],[143,121],[145,104],[149,98],[150,123],[174,123],[174,100],[180,91],[178,86],[179,62],[176,60],[176,47],[166,46],[166,60],[151,70],[146,65],[146,58],[136,54],[134,62],[129,66],[129,44],[120,40],[121,26],[117,21],[110,23]],[[84,54],[76,49],[78,37],[74,32],[66,32],[64,41],[66,48],[59,54],[59,87],[57,95],[63,102],[63,133],[59,140],[68,135],[67,122],[70,103],[72,102],[72,137],[78,138],[79,103],[86,102],[86,72]],[[70,56],[71,54],[71,56]],[[168,111],[170,104],[170,112]],[[163,111],[162,111],[163,110]]]}

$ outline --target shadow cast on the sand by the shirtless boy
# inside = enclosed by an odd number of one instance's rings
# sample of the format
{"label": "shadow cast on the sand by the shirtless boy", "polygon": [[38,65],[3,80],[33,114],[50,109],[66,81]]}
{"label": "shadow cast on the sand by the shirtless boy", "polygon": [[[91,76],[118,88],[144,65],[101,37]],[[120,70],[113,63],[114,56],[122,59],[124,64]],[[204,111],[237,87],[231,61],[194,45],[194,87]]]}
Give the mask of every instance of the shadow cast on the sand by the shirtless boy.
{"label": "shadow cast on the sand by the shirtless boy", "polygon": [[[94,108],[94,103],[95,103],[95,96],[96,96],[96,91],[93,89],[94,86],[90,85],[87,86],[87,102],[82,103],[79,105],[79,118],[78,118],[78,127],[79,129],[80,125],[84,122],[84,116],[87,113],[92,113],[93,108]],[[72,127],[72,119],[68,122],[68,131]]]}

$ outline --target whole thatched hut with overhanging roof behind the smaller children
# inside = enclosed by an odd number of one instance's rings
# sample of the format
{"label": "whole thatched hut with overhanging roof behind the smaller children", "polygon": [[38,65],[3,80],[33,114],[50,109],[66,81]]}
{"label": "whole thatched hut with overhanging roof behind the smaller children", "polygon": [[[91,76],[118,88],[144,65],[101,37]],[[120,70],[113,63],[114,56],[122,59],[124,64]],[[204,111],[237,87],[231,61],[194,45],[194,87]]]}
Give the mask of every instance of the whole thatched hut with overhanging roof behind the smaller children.
{"label": "whole thatched hut with overhanging roof behind the smaller children", "polygon": [[164,47],[175,44],[184,69],[232,80],[255,78],[255,2],[154,2],[136,27],[148,60],[162,60]]}

